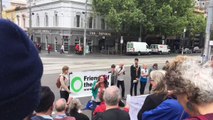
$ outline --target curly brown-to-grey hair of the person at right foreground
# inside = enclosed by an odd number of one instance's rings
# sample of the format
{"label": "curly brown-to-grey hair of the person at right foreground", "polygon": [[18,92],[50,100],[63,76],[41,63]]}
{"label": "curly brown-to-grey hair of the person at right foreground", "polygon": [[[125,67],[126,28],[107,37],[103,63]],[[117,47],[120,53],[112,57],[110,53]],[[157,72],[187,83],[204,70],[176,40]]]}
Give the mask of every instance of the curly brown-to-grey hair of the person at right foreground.
{"label": "curly brown-to-grey hair of the person at right foreground", "polygon": [[213,103],[213,69],[207,63],[200,65],[185,56],[177,57],[166,73],[166,84],[176,95],[185,94],[190,103]]}

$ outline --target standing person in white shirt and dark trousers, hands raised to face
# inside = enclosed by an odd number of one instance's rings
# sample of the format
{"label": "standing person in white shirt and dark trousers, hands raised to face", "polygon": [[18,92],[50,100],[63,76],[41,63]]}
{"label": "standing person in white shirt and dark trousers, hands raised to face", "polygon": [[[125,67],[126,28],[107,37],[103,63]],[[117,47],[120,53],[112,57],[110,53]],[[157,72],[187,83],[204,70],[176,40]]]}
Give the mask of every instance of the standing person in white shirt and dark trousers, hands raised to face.
{"label": "standing person in white shirt and dark trousers, hands raised to face", "polygon": [[121,87],[121,96],[122,99],[125,99],[125,84],[124,84],[124,76],[125,76],[125,68],[124,64],[121,63],[119,66],[116,68],[117,71],[117,87]]}

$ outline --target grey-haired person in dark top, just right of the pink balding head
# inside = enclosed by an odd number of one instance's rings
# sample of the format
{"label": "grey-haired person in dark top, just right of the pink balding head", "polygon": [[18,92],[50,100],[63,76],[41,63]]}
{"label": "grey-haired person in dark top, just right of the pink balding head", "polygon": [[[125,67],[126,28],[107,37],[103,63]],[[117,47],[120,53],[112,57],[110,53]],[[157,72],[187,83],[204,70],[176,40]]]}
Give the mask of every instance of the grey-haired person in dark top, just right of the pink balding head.
{"label": "grey-haired person in dark top, just right of the pink balding head", "polygon": [[75,117],[76,120],[89,120],[89,118],[80,112],[82,104],[79,99],[72,99],[68,107],[68,115]]}

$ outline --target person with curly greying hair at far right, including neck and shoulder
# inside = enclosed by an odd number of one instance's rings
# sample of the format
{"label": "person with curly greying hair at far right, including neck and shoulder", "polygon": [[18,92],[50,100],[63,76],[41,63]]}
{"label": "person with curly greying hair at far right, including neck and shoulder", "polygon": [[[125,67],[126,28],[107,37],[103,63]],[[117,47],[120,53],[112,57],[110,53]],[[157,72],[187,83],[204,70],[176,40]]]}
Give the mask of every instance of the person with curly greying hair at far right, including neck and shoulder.
{"label": "person with curly greying hair at far right, including neck and shoulder", "polygon": [[188,120],[213,119],[212,73],[211,65],[200,65],[186,56],[179,56],[170,63],[166,84],[191,115]]}

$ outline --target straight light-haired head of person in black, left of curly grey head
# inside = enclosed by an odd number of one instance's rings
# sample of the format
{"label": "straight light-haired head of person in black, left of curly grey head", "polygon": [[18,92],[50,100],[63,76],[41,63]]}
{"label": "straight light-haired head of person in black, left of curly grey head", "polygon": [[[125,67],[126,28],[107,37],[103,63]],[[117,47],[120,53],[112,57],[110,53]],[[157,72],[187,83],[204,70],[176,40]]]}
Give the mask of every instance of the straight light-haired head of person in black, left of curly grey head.
{"label": "straight light-haired head of person in black, left of curly grey head", "polygon": [[166,93],[166,84],[165,84],[165,74],[164,70],[154,70],[150,73],[150,78],[156,83],[156,88],[153,89],[154,93],[161,94]]}

